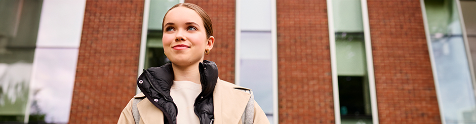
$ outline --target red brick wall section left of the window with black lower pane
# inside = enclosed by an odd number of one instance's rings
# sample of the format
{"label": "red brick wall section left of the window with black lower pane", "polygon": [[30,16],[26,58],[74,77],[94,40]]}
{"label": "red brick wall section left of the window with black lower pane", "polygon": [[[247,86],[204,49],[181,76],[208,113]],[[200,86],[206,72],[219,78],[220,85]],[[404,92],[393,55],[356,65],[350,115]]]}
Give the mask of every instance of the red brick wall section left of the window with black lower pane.
{"label": "red brick wall section left of the window with black lower pane", "polygon": [[280,123],[334,123],[326,1],[277,0]]}

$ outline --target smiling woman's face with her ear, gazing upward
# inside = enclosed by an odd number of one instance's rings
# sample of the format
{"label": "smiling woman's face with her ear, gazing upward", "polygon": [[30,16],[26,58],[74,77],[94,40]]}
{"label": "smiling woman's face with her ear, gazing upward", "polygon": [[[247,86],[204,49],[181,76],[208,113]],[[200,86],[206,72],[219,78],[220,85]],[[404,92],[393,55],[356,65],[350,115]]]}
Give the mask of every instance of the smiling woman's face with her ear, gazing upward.
{"label": "smiling woman's face with her ear, gazing upward", "polygon": [[214,37],[207,37],[202,18],[194,10],[177,7],[164,17],[164,53],[176,65],[202,62],[206,49],[213,48]]}

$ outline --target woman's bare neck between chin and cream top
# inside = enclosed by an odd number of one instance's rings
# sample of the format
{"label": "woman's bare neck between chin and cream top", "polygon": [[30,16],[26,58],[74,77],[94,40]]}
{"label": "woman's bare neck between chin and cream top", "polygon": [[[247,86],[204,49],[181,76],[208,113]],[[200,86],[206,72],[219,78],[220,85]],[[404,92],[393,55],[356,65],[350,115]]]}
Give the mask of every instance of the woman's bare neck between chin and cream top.
{"label": "woman's bare neck between chin and cream top", "polygon": [[200,71],[199,63],[191,64],[188,66],[180,66],[172,63],[172,68],[174,69],[174,80],[175,81],[192,81],[196,84],[201,84],[200,81]]}

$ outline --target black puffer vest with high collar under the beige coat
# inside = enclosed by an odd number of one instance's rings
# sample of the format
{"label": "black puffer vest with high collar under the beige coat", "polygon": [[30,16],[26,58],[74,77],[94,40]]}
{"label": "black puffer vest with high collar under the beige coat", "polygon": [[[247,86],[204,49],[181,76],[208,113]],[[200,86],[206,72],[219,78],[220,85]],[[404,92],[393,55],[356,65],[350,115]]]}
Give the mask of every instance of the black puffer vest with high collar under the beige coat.
{"label": "black puffer vest with high collar under the beige coat", "polygon": [[[218,68],[215,62],[204,60],[199,65],[202,93],[194,102],[193,111],[199,117],[201,124],[208,124],[213,116],[213,90],[217,84]],[[170,96],[170,88],[174,82],[172,64],[167,63],[161,67],[151,67],[137,79],[137,86],[145,97],[161,109],[164,113],[164,123],[177,123],[177,106]]]}

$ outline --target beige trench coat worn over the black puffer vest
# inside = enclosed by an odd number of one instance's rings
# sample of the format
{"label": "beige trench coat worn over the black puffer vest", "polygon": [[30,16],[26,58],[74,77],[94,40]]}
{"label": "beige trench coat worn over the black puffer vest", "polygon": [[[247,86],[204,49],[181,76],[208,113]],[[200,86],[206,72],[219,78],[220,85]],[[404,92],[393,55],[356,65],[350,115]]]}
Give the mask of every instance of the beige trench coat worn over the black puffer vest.
{"label": "beige trench coat worn over the black puffer vest", "polygon": [[[251,94],[236,90],[234,88],[243,88],[231,84],[230,82],[218,79],[215,90],[213,91],[213,115],[215,117],[215,124],[236,123],[242,124],[241,117],[248,104]],[[246,89],[246,88],[244,88]],[[134,98],[144,97],[140,93]],[[132,102],[134,98],[129,101],[126,108],[121,112],[121,116],[117,123],[131,123],[134,124],[134,117],[132,116]],[[269,123],[264,111],[259,107],[255,101],[254,121],[253,123]],[[150,101],[145,98],[137,103],[137,108],[141,116],[140,124],[148,123],[164,123],[164,113],[155,107]]]}

